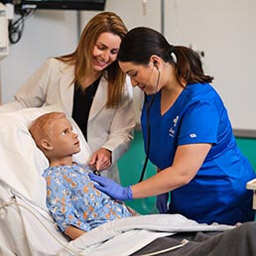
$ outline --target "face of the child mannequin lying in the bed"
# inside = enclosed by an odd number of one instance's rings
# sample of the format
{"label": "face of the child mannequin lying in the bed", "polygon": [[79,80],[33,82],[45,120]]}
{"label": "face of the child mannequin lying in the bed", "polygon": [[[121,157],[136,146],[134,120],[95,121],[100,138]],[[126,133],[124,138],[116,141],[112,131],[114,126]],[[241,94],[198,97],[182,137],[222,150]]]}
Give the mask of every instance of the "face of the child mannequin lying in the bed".
{"label": "face of the child mannequin lying in the bed", "polygon": [[64,117],[54,121],[49,131],[49,147],[55,159],[69,157],[80,151],[78,135],[72,131],[70,122]]}

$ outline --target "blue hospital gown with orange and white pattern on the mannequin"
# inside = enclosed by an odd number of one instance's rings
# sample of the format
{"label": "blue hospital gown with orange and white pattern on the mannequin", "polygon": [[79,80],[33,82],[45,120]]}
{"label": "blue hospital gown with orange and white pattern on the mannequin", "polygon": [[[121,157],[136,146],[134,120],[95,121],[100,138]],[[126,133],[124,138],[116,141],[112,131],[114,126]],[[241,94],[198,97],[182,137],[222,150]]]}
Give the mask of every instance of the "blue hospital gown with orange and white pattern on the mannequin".
{"label": "blue hospital gown with orange and white pattern on the mannequin", "polygon": [[95,189],[89,173],[88,167],[77,163],[44,172],[47,206],[63,232],[68,225],[87,232],[109,220],[132,215],[123,203]]}

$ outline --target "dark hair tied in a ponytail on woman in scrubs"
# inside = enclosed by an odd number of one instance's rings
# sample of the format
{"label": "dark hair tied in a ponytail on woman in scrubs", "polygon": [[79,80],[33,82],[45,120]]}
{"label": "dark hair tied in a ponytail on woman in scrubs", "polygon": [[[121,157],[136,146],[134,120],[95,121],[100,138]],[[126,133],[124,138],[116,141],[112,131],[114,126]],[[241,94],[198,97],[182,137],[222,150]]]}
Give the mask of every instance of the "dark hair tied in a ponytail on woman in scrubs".
{"label": "dark hair tied in a ponytail on woman in scrubs", "polygon": [[181,83],[184,80],[187,83],[203,83],[213,79],[203,73],[197,53],[187,47],[170,45],[161,33],[150,28],[138,27],[130,30],[121,43],[117,59],[124,63],[149,64],[153,55],[175,65],[176,76]]}

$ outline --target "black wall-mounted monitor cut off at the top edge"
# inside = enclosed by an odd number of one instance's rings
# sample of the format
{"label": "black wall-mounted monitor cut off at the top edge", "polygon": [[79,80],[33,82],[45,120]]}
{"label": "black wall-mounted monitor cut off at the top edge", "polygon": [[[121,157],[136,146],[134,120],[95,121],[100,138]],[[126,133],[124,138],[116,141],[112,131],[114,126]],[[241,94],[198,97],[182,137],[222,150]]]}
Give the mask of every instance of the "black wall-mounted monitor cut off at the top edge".
{"label": "black wall-mounted monitor cut off at the top edge", "polygon": [[98,10],[105,8],[106,0],[22,0],[22,9],[66,9],[66,10]]}

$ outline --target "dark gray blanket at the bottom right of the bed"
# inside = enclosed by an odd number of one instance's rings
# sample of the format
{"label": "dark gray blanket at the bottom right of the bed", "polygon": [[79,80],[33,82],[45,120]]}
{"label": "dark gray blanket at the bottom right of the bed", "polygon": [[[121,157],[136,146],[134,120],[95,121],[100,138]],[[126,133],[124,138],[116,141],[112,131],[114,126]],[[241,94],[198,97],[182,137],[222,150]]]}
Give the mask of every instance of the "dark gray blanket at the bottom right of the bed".
{"label": "dark gray blanket at the bottom right of the bed", "polygon": [[139,256],[181,244],[183,239],[190,242],[170,252],[158,254],[169,256],[256,256],[256,222],[245,222],[224,232],[179,233],[158,238],[132,254]]}

